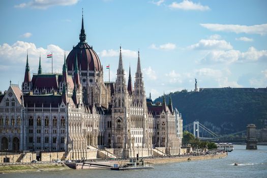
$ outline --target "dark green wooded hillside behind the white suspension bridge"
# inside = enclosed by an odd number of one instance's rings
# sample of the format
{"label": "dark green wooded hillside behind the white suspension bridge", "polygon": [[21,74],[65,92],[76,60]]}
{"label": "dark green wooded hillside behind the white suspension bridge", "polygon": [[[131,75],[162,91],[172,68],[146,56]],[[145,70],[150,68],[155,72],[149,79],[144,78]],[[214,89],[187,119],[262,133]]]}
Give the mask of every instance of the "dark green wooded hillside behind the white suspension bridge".
{"label": "dark green wooded hillside behind the white suspension bridge", "polygon": [[[267,92],[243,88],[209,88],[200,92],[170,93],[173,106],[183,116],[184,125],[199,121],[219,134],[246,130],[247,124],[257,129],[267,121]],[[166,95],[168,102],[169,95]],[[162,102],[162,96],[155,100]],[[265,122],[266,122],[265,121]]]}

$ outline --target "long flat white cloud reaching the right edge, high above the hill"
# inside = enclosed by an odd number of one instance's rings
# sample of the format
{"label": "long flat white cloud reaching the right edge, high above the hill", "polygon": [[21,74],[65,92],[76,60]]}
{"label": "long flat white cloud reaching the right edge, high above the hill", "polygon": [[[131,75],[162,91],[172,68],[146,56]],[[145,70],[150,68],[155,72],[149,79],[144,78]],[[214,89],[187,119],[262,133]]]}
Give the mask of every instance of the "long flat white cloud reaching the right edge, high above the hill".
{"label": "long flat white cloud reaching the right edge, high above the hill", "polygon": [[267,33],[267,24],[260,25],[233,25],[233,24],[218,24],[218,23],[201,23],[201,26],[216,32],[234,32],[236,34],[259,34],[265,35]]}

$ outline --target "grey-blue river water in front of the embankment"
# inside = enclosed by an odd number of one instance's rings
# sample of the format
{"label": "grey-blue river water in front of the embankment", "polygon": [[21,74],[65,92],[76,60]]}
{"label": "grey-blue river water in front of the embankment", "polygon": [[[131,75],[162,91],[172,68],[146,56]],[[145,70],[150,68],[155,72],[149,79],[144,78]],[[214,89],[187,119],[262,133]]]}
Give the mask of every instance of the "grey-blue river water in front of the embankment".
{"label": "grey-blue river water in front of the embankment", "polygon": [[[239,163],[234,166],[234,163]],[[190,161],[182,163],[155,164],[155,169],[112,171],[108,169],[83,169],[49,172],[2,174],[0,177],[267,177],[267,146],[258,150],[246,150],[246,145],[234,145],[234,151],[226,158]]]}

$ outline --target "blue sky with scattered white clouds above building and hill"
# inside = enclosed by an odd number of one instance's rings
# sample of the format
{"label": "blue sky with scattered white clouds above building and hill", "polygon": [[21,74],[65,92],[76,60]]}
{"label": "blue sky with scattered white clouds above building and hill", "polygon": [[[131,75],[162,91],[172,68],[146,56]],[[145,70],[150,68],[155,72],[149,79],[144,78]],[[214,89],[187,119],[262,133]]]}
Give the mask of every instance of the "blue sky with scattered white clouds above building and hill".
{"label": "blue sky with scattered white clouds above building and hill", "polygon": [[[115,80],[118,49],[134,76],[140,50],[146,95],[199,87],[267,86],[267,1],[0,2],[0,90],[23,80],[26,51],[32,73],[62,71],[79,42],[81,9],[87,42]],[[108,70],[104,69],[108,80]]]}

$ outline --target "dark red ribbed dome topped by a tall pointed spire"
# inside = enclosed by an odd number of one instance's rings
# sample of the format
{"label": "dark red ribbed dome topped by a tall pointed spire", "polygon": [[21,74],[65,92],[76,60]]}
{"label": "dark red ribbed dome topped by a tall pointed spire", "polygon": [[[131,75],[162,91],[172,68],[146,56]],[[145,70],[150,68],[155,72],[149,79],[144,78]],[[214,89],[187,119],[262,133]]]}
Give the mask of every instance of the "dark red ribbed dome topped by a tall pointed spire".
{"label": "dark red ribbed dome topped by a tall pointed spire", "polygon": [[101,63],[97,53],[93,50],[92,46],[89,46],[86,43],[86,35],[83,28],[83,17],[81,23],[81,33],[80,33],[80,42],[73,47],[71,52],[67,57],[67,67],[68,70],[74,70],[75,60],[77,54],[78,68],[81,70],[101,70]]}

